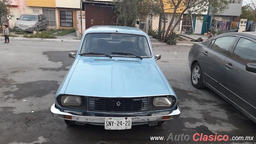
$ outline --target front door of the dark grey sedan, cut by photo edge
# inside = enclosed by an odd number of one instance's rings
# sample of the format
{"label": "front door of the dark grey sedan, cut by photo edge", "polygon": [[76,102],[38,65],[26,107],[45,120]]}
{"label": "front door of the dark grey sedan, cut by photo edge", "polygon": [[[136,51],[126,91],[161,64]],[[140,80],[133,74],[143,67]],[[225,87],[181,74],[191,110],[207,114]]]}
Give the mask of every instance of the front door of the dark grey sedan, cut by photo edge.
{"label": "front door of the dark grey sedan, cut by photo edge", "polygon": [[241,36],[224,62],[220,85],[229,100],[256,118],[256,73],[246,70],[247,63],[256,63],[256,40]]}

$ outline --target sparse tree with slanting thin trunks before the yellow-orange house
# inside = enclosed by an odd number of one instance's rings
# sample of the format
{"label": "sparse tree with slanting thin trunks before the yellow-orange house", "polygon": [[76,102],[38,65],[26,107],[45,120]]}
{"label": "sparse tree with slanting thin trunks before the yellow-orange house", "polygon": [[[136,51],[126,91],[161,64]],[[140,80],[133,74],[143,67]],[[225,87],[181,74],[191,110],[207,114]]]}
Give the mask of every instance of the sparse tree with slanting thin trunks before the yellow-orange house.
{"label": "sparse tree with slanting thin trunks before the yellow-orange house", "polygon": [[[163,41],[166,41],[166,37],[169,33],[173,33],[175,27],[180,23],[180,20],[184,19],[183,14],[186,12],[186,16],[191,16],[191,14],[202,15],[204,12],[208,11],[210,7],[210,11],[212,14],[219,14],[228,8],[229,1],[227,0],[166,0],[167,2],[163,2],[163,4],[167,4],[169,10],[173,10],[172,19],[170,20],[170,24],[164,34]],[[167,10],[167,9],[165,9]],[[177,22],[174,22],[174,19],[178,18]]]}

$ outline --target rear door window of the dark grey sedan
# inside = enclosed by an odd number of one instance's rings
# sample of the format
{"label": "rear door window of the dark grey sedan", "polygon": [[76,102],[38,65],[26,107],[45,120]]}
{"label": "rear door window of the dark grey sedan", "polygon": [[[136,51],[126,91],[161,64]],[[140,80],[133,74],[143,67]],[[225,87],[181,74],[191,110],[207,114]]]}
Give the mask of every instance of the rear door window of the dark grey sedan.
{"label": "rear door window of the dark grey sedan", "polygon": [[228,50],[233,46],[234,41],[236,40],[235,36],[223,36],[217,38],[212,45],[212,50],[219,52],[224,55],[228,55]]}

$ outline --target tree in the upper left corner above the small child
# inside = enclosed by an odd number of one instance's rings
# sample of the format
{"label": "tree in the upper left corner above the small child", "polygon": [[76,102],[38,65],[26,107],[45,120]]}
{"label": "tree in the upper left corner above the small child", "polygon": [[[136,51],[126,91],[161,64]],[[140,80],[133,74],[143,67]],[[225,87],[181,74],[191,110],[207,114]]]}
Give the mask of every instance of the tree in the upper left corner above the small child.
{"label": "tree in the upper left corner above the small child", "polygon": [[2,26],[1,17],[6,16],[6,18],[11,19],[14,17],[10,11],[12,0],[0,0],[0,26]]}

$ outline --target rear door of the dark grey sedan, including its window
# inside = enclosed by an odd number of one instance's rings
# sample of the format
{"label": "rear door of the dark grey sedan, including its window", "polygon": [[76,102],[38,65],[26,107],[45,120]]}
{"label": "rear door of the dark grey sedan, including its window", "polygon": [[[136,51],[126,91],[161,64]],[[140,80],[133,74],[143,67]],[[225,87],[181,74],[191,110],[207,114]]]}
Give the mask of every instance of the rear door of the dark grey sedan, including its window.
{"label": "rear door of the dark grey sedan, including its window", "polygon": [[236,35],[224,35],[213,39],[202,51],[200,64],[204,72],[204,82],[218,89],[222,66],[236,40]]}

